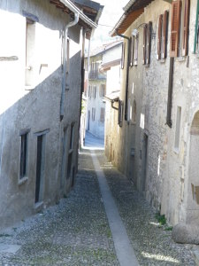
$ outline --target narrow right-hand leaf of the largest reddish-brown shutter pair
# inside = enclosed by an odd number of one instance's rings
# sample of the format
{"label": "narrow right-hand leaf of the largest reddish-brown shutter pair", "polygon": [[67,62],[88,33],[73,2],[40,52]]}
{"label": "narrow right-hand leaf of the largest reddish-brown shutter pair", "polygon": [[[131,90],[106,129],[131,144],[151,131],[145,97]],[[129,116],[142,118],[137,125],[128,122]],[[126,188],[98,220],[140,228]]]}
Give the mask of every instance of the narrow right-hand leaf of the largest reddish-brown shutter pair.
{"label": "narrow right-hand leaf of the largest reddish-brown shutter pair", "polygon": [[185,0],[183,41],[182,41],[182,55],[183,56],[188,55],[189,10],[190,10],[190,0]]}

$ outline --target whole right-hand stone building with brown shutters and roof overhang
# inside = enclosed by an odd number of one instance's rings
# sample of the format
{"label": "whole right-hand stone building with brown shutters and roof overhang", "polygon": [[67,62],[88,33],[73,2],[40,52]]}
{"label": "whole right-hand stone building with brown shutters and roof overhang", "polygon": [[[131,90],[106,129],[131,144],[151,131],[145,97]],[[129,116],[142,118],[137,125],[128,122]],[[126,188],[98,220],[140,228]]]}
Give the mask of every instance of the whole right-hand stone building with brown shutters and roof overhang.
{"label": "whole right-hand stone building with brown shutters and roof overhang", "polygon": [[[199,1],[126,4],[115,164],[172,224],[198,224]],[[116,133],[115,133],[116,134]]]}

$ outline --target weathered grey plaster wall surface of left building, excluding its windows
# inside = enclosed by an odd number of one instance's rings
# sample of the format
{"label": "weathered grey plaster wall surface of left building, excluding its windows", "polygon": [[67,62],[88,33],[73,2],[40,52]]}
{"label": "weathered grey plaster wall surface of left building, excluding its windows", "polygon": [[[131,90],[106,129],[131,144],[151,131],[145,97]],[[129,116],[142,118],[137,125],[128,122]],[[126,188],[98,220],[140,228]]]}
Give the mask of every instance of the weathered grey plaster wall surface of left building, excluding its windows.
{"label": "weathered grey plaster wall surface of left building, excluding its windows", "polygon": [[[34,86],[25,90],[26,18],[22,11],[34,14],[35,26]],[[0,86],[0,219],[8,226],[39,210],[34,204],[36,176],[36,132],[46,134],[44,189],[41,207],[54,204],[72,184],[67,176],[68,153],[73,153],[72,168],[77,171],[77,148],[80,114],[80,27],[69,30],[70,82],[65,93],[65,116],[60,122],[62,88],[62,31],[69,18],[49,1],[0,2],[1,56],[17,57],[16,61],[1,61]],[[13,23],[14,21],[14,23]],[[3,30],[4,25],[4,30]],[[5,27],[6,25],[6,27]],[[5,43],[8,43],[7,46]],[[13,43],[15,45],[13,45]],[[41,70],[41,64],[48,64]],[[73,148],[70,148],[71,124],[74,124]],[[67,128],[66,156],[61,183],[64,129]],[[28,133],[27,178],[19,182],[20,131]],[[67,180],[66,180],[67,176]]]}

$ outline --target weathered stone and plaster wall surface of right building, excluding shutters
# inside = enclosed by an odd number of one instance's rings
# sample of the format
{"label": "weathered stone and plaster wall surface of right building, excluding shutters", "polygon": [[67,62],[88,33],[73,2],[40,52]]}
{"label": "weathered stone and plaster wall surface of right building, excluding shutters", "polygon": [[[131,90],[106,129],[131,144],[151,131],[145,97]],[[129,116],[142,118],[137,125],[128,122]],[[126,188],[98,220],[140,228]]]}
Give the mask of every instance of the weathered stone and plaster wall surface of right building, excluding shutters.
{"label": "weathered stone and plaster wall surface of right building, excluding shutters", "polygon": [[[174,59],[172,128],[165,125],[169,82],[169,51],[172,5],[162,0],[153,1],[144,13],[126,30],[132,30],[142,23],[152,21],[151,62],[142,65],[142,27],[139,28],[138,66],[130,67],[128,103],[133,110],[136,101],[136,121],[124,121],[119,129],[118,142],[114,147],[114,161],[119,169],[131,178],[137,189],[149,202],[165,214],[172,223],[199,218],[199,207],[193,200],[191,184],[197,186],[198,139],[190,135],[192,121],[199,110],[198,98],[198,56],[193,54],[195,39],[196,0],[191,1],[189,23],[188,57]],[[158,18],[169,11],[167,58],[157,60]],[[125,41],[126,42],[126,41]],[[127,52],[126,52],[127,55]],[[122,71],[120,98],[125,100],[126,66]],[[175,148],[177,107],[181,108],[180,145]],[[114,129],[114,127],[113,127]],[[144,159],[146,144],[147,159]],[[133,155],[132,154],[133,152]],[[145,164],[145,166],[144,166]],[[146,175],[144,175],[144,167]],[[195,198],[195,195],[194,195]]]}

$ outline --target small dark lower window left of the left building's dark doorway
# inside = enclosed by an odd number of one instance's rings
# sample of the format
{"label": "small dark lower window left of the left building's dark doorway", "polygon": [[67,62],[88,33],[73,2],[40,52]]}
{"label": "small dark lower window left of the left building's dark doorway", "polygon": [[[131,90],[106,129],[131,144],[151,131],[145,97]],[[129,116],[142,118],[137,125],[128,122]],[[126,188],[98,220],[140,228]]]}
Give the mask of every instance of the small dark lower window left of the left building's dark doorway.
{"label": "small dark lower window left of the left building's dark doorway", "polygon": [[27,152],[28,152],[28,132],[20,136],[20,175],[19,179],[27,176]]}

